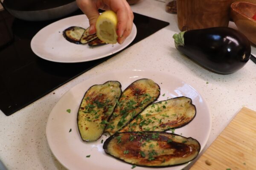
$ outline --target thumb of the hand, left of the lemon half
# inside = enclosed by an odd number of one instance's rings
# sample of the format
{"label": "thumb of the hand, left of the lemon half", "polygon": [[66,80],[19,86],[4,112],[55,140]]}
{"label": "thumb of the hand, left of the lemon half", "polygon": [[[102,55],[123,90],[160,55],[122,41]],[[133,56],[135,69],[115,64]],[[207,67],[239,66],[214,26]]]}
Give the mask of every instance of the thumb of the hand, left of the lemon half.
{"label": "thumb of the hand, left of the lemon half", "polygon": [[99,17],[99,11],[96,7],[96,4],[93,3],[92,0],[77,0],[77,5],[81,9],[81,11],[84,12],[84,14],[88,17],[90,28],[89,28],[89,34],[96,33],[96,21]]}

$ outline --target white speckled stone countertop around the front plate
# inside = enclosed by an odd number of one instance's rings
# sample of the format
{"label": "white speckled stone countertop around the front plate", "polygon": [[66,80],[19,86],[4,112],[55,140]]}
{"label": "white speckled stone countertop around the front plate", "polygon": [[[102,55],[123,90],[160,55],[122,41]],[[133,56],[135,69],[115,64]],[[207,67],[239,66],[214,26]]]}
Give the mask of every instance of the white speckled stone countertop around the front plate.
{"label": "white speckled stone countertop around the front plate", "polygon": [[[175,14],[165,11],[165,3],[140,0],[132,6],[139,14],[170,23],[150,37],[87,71],[26,108],[5,116],[0,111],[0,160],[10,170],[65,169],[52,155],[46,139],[47,118],[61,96],[73,86],[105,71],[151,69],[180,77],[202,94],[212,116],[207,147],[242,107],[256,111],[256,64],[251,60],[239,71],[220,75],[207,71],[180,54],[172,35],[180,32]],[[236,28],[233,23],[230,27]],[[256,48],[252,47],[256,54]],[[204,149],[204,150],[205,150]]]}

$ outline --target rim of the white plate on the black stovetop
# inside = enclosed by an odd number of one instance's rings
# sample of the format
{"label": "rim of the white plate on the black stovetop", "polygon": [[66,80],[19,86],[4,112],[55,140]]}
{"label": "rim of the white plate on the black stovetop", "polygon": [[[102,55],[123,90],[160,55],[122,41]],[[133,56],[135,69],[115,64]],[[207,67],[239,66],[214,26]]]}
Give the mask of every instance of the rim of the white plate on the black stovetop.
{"label": "rim of the white plate on the black stovetop", "polygon": [[[118,48],[117,50],[115,50],[115,51],[112,51],[112,52],[110,52],[110,53],[107,53],[107,54],[104,54],[104,55],[101,55],[101,56],[99,56],[99,57],[94,57],[93,59],[79,59],[79,60],[69,60],[69,61],[61,61],[61,60],[56,60],[56,59],[49,59],[48,57],[45,57],[45,56],[42,56],[41,54],[39,54],[38,53],[38,51],[35,51],[35,47],[34,47],[34,45],[35,45],[35,40],[36,40],[36,38],[37,38],[37,36],[39,36],[40,35],[40,32],[41,31],[44,31],[44,29],[46,29],[47,27],[50,27],[50,26],[52,26],[52,25],[54,25],[54,24],[56,24],[56,23],[58,23],[58,22],[61,22],[61,21],[63,21],[63,20],[68,20],[68,19],[71,19],[72,17],[82,17],[82,16],[85,16],[85,20],[87,20],[88,22],[89,22],[89,20],[88,20],[88,18],[87,18],[87,16],[85,15],[85,14],[79,14],[79,15],[74,15],[74,16],[71,16],[71,17],[66,17],[66,18],[63,18],[63,19],[61,19],[61,20],[57,20],[57,21],[55,21],[55,22],[53,22],[53,23],[50,23],[49,25],[47,25],[47,26],[44,26],[44,28],[41,28],[34,36],[33,36],[33,38],[32,38],[32,40],[30,41],[30,48],[31,48],[31,50],[33,51],[33,53],[36,55],[36,56],[38,56],[38,57],[40,57],[40,58],[42,58],[42,59],[45,59],[45,60],[48,60],[48,61],[52,61],[52,62],[59,62],[59,63],[79,63],[79,62],[88,62],[88,61],[93,61],[93,60],[96,60],[96,59],[101,59],[101,58],[105,58],[105,57],[108,57],[108,56],[110,56],[110,55],[112,55],[112,54],[116,54],[117,52],[119,52],[119,51],[121,51],[121,50],[123,50],[124,48],[126,48],[128,45],[130,45],[131,44],[131,42],[133,42],[134,41],[134,39],[135,39],[135,37],[136,37],[136,35],[137,35],[137,27],[136,27],[136,25],[133,23],[133,27],[132,27],[132,30],[131,30],[131,33],[134,31],[134,34],[130,34],[129,36],[131,36],[131,40],[130,41],[128,41],[127,42],[127,39],[128,39],[128,37],[126,38],[126,42],[124,41],[124,43],[126,43],[124,46],[122,46],[121,48]],[[68,27],[68,26],[67,26]],[[72,43],[72,42],[70,42],[70,43]],[[117,44],[117,43],[116,43]],[[78,44],[79,45],[79,44]],[[109,44],[110,45],[110,44]],[[122,44],[121,44],[122,45]],[[100,47],[100,46],[99,46]],[[34,49],[34,50],[33,50]]]}

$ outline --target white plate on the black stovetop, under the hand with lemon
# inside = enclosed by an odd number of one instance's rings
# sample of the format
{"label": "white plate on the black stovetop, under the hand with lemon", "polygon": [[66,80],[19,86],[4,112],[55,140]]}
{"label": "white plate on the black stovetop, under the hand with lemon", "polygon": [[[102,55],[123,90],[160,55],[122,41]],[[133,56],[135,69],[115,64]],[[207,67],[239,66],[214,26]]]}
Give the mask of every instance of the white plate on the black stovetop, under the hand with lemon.
{"label": "white plate on the black stovetop, under the hand with lemon", "polygon": [[32,51],[38,57],[53,62],[85,62],[107,57],[122,50],[134,40],[137,34],[137,28],[133,24],[131,34],[121,45],[116,43],[90,47],[88,44],[74,44],[63,37],[62,32],[70,26],[88,28],[89,20],[82,14],[51,23],[32,38],[30,44]]}

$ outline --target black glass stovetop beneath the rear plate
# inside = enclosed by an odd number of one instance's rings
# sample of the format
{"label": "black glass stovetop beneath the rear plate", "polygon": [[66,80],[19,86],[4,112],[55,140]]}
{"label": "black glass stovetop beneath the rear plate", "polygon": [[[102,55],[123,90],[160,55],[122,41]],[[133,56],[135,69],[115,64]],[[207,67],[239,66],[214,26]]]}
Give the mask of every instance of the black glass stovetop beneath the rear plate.
{"label": "black glass stovetop beneath the rear plate", "polygon": [[[69,16],[78,14],[82,12],[78,10]],[[58,63],[41,59],[33,53],[30,41],[41,28],[55,21],[23,21],[12,17],[5,10],[0,11],[0,110],[6,116],[116,55],[79,63]],[[134,24],[137,36],[126,48],[169,25],[136,13]]]}

